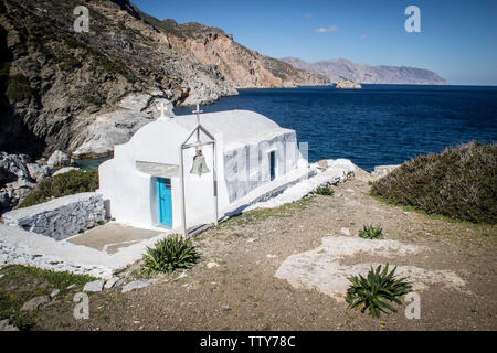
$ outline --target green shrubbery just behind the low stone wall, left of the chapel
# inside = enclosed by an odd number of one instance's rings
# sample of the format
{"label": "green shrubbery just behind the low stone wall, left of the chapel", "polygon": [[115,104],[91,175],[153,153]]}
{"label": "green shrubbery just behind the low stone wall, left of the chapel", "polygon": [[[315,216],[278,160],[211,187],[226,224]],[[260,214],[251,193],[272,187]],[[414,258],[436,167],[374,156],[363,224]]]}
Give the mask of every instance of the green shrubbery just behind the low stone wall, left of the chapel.
{"label": "green shrubbery just behind the low stone wall, left of the chapel", "polygon": [[28,207],[55,197],[95,191],[96,189],[98,189],[98,172],[96,170],[72,170],[42,181],[18,207]]}

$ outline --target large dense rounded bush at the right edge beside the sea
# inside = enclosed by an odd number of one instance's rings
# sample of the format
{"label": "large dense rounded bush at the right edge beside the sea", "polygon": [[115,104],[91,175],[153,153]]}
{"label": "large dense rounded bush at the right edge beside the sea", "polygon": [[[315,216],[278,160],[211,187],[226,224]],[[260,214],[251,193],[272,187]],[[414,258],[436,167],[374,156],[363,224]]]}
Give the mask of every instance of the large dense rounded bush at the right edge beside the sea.
{"label": "large dense rounded bush at the right edge beside the sea", "polygon": [[373,183],[371,194],[429,214],[497,223],[497,145],[469,142],[419,156]]}

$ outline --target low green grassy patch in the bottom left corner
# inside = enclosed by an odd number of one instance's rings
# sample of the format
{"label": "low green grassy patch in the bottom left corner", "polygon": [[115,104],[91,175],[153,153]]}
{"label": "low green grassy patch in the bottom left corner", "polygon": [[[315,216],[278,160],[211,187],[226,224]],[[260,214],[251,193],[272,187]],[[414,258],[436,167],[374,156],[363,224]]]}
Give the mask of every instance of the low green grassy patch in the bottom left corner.
{"label": "low green grassy patch in the bottom left corner", "polygon": [[95,280],[87,275],[55,272],[31,266],[9,265],[0,269],[0,320],[9,319],[20,330],[29,330],[34,324],[36,312],[23,312],[21,307],[36,296],[49,296],[52,290],[67,293],[67,287],[83,287]]}

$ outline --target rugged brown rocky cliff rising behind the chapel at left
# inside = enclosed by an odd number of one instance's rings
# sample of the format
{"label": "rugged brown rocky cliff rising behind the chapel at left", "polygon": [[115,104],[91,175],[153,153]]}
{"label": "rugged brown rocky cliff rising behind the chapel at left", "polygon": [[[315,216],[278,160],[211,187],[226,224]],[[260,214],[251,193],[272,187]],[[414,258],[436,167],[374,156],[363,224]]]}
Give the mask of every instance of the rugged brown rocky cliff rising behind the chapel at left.
{"label": "rugged brown rocky cliff rising behind the chapel at left", "polygon": [[[88,33],[73,30],[80,4]],[[30,154],[76,149],[129,95],[193,105],[237,87],[328,84],[220,29],[159,21],[127,0],[0,0],[0,150]]]}

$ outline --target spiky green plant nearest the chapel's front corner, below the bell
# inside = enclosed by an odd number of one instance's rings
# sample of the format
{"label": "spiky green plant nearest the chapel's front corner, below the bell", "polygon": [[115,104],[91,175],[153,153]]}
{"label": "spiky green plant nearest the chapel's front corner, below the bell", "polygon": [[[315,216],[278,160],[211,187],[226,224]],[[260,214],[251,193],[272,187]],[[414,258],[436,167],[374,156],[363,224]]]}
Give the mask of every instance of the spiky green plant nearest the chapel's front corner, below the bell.
{"label": "spiky green plant nearest the chapel's front corner, below the bell", "polygon": [[144,255],[144,267],[150,272],[172,272],[177,268],[190,268],[200,259],[191,239],[180,236],[167,237],[147,247]]}

